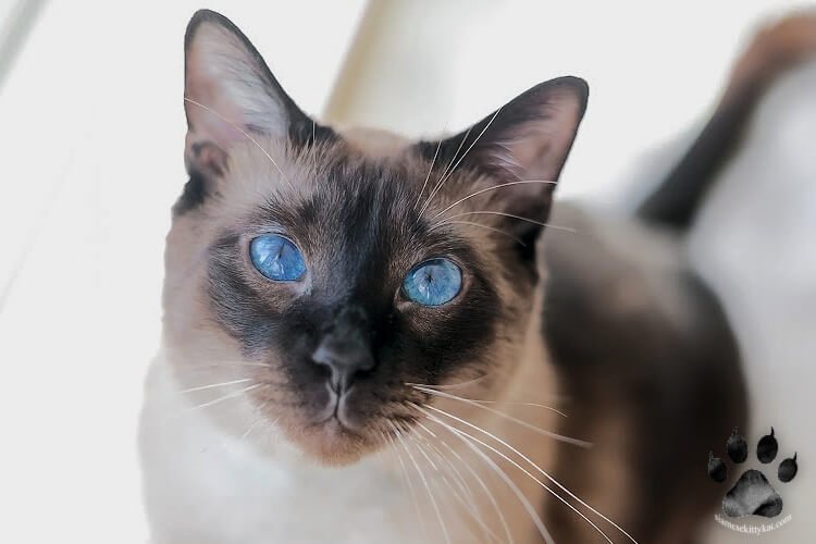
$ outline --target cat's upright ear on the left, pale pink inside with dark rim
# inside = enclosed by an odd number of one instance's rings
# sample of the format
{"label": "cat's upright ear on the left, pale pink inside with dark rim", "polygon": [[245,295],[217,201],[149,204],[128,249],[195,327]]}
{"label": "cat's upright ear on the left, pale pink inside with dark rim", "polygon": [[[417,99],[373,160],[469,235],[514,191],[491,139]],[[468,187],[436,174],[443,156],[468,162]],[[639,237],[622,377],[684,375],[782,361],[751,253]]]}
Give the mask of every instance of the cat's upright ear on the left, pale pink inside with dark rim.
{"label": "cat's upright ear on the left, pale pink inside with dark rim", "polygon": [[209,10],[196,12],[184,50],[185,158],[190,172],[221,174],[230,145],[248,135],[311,138],[312,120],[230,20]]}

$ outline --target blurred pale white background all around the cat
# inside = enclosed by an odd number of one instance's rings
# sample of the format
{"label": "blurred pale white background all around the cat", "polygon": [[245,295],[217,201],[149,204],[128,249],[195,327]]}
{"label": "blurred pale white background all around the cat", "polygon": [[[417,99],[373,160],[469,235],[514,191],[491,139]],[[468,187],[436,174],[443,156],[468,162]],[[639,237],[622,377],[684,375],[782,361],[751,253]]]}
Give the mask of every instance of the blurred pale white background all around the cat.
{"label": "blurred pale white background all around the cat", "polygon": [[[135,429],[185,182],[183,35],[205,7],[307,112],[339,124],[454,132],[539,82],[582,76],[590,108],[558,194],[618,209],[682,153],[757,25],[795,8],[0,0],[0,542],[146,540]],[[809,63],[763,101],[690,239],[746,355],[746,434],[774,425],[799,452],[793,518],[767,542],[816,540],[815,184]],[[710,524],[715,542],[749,539]]]}

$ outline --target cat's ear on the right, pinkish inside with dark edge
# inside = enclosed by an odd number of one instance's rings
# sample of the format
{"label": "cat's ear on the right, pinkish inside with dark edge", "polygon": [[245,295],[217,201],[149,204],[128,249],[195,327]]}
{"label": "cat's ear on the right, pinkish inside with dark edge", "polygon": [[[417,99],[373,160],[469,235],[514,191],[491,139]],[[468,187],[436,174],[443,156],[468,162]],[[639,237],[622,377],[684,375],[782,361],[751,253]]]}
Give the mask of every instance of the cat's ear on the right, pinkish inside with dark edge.
{"label": "cat's ear on the right, pinkish inside with dark edge", "polygon": [[[528,180],[552,182],[514,184],[492,195],[500,211],[545,222],[555,182],[567,161],[588,97],[589,87],[583,79],[552,79],[519,95],[468,131],[441,144],[421,143],[419,149],[431,160],[438,146],[437,164],[481,171],[494,176],[496,185]],[[540,230],[520,220],[508,222],[508,228],[532,242]]]}

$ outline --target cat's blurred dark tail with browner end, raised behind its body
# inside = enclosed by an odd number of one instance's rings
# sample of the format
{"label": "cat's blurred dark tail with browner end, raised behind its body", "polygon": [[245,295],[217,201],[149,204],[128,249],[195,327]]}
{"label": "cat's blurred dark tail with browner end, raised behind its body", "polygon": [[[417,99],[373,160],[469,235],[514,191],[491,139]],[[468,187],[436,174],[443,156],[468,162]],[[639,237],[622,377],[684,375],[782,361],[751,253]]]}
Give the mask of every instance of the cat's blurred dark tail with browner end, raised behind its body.
{"label": "cat's blurred dark tail with browner end, raised behind its body", "polygon": [[677,165],[636,210],[642,220],[687,230],[717,174],[739,150],[765,91],[788,69],[816,57],[816,11],[789,15],[761,30],[737,61],[726,91]]}

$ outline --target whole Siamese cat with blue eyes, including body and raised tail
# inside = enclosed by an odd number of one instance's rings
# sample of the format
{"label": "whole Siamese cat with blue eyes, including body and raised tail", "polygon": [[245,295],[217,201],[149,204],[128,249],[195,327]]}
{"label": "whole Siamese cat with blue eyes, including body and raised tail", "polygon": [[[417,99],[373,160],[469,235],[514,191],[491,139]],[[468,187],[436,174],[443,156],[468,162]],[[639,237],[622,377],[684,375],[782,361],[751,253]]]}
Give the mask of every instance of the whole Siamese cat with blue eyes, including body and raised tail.
{"label": "whole Siamese cat with blue eyes, including body and raised tail", "polygon": [[620,218],[553,202],[580,78],[434,141],[341,131],[196,13],[140,426],[152,542],[697,540],[722,493],[706,455],[746,396],[683,233],[763,90],[815,49],[782,32],[808,21],[757,36]]}

